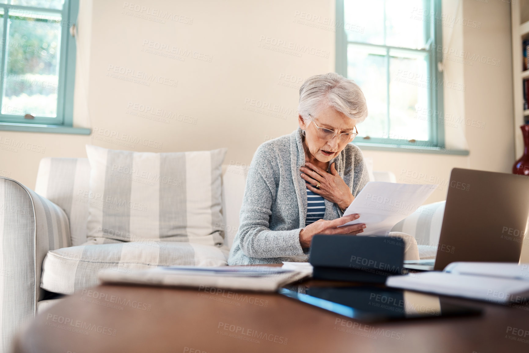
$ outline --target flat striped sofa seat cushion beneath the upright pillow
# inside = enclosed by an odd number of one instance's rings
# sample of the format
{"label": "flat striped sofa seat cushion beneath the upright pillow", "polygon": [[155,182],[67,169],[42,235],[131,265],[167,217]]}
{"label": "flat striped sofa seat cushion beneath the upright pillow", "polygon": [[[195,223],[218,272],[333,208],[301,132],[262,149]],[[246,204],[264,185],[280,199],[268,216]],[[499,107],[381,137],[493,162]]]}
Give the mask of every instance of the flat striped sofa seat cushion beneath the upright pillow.
{"label": "flat striped sofa seat cushion beneath the upright pillow", "polygon": [[[130,272],[150,266],[226,266],[229,249],[190,242],[88,241],[86,245],[51,250],[42,265],[41,287],[47,291],[72,294],[99,284],[101,269]],[[110,241],[110,243],[108,243]]]}

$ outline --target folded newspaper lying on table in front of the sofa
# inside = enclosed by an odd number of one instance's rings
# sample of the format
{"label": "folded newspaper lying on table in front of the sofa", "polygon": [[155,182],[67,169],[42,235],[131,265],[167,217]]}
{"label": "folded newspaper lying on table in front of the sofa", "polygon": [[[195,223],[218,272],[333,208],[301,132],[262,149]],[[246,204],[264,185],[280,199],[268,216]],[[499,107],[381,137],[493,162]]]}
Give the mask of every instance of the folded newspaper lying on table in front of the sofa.
{"label": "folded newspaper lying on table in front of the sofa", "polygon": [[245,291],[275,292],[281,286],[310,275],[308,271],[271,266],[168,266],[130,270],[114,269],[99,272],[102,283],[129,283],[154,286],[211,286]]}

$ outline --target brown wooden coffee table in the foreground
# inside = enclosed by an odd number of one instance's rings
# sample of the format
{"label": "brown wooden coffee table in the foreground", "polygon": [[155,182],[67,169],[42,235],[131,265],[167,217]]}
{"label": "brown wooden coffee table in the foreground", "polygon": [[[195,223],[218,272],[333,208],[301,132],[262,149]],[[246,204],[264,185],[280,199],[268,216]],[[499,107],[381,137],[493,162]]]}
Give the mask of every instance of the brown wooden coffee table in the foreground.
{"label": "brown wooden coffee table in the foreground", "polygon": [[39,313],[17,336],[15,351],[529,351],[528,306],[451,300],[484,314],[364,324],[279,294],[103,285]]}

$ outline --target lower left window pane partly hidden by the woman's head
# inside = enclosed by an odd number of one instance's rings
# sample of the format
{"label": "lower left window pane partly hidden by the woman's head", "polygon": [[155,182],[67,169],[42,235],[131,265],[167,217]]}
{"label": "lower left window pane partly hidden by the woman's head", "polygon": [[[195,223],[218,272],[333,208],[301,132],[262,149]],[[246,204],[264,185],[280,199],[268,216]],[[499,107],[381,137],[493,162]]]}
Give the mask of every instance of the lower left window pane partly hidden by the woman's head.
{"label": "lower left window pane partly hidden by the woman's head", "polygon": [[359,135],[387,137],[386,49],[349,44],[347,61],[347,76],[362,88],[369,112],[357,127]]}

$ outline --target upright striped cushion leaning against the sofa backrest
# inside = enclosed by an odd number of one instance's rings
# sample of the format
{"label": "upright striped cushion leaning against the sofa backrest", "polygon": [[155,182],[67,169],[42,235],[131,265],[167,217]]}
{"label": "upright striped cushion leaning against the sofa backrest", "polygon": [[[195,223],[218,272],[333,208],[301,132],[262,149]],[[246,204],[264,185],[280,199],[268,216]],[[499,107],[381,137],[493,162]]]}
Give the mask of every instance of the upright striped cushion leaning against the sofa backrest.
{"label": "upright striped cushion leaning against the sofa backrest", "polygon": [[226,148],[132,152],[86,145],[90,161],[88,240],[162,239],[223,243]]}

